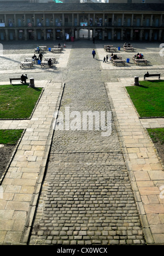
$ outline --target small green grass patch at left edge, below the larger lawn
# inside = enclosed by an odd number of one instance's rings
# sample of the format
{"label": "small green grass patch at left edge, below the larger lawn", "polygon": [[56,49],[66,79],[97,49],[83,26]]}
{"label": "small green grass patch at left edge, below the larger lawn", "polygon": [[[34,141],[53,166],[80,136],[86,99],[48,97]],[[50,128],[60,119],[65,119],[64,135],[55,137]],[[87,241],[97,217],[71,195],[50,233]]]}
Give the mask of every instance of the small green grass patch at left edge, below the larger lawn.
{"label": "small green grass patch at left edge, below the larger lawn", "polygon": [[0,130],[0,144],[15,145],[24,130]]}

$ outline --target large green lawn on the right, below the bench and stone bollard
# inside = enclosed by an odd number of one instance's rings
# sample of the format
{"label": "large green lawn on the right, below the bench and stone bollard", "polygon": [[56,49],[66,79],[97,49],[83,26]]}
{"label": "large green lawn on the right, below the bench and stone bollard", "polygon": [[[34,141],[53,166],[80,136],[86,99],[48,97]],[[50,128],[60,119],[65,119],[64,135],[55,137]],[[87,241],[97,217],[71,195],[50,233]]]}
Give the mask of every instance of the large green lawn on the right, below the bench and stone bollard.
{"label": "large green lawn on the right, below the bench and stone bollard", "polygon": [[127,86],[140,117],[164,117],[164,81],[140,81],[140,86]]}

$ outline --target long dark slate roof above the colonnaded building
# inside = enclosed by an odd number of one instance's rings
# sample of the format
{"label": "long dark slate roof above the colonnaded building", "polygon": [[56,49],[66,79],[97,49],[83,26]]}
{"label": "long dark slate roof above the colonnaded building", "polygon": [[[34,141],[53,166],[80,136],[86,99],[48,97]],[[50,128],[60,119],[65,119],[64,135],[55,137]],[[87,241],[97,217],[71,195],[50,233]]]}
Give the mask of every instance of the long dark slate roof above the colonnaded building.
{"label": "long dark slate roof above the colonnaded building", "polygon": [[164,4],[127,4],[127,3],[27,3],[27,2],[0,2],[0,13],[40,13],[40,12],[73,11],[82,12],[164,12]]}

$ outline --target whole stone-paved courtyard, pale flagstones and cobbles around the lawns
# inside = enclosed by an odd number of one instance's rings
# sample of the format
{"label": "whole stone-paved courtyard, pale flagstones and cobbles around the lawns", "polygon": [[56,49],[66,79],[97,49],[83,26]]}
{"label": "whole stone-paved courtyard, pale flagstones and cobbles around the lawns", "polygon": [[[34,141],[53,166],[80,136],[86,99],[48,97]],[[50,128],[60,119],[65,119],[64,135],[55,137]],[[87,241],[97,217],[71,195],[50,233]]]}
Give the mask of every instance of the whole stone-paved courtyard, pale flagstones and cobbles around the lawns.
{"label": "whole stone-paved courtyard, pale flagstones and cobbles around the lawns", "polygon": [[[164,244],[163,165],[145,130],[163,127],[163,119],[140,120],[125,91],[148,70],[164,77],[164,57],[159,43],[133,43],[148,65],[136,66],[134,53],[121,48],[117,54],[130,63],[115,67],[103,63],[106,43],[68,42],[54,55],[54,68],[24,71],[20,62],[36,45],[4,45],[0,84],[27,73],[44,92],[30,120],[0,120],[1,129],[25,129],[1,181],[1,244]],[[54,113],[68,107],[72,117],[112,112],[112,133],[102,136],[101,127],[62,129],[68,120]]]}

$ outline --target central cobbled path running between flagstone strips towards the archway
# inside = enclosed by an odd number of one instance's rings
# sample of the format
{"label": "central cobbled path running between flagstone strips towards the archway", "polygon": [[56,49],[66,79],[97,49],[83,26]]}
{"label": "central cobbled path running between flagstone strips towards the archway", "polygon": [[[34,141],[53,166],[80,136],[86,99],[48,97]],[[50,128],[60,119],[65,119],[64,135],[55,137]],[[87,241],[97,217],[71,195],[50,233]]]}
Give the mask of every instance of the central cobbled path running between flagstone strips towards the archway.
{"label": "central cobbled path running between flagstone strips towards the archway", "polygon": [[[86,45],[85,45],[86,44]],[[110,111],[93,45],[73,45],[60,111]],[[65,124],[65,120],[63,120]],[[60,122],[59,122],[60,123]],[[118,133],[54,132],[30,245],[141,245],[138,211]]]}

